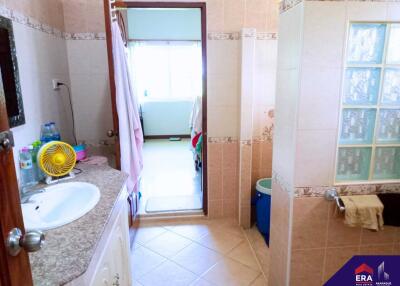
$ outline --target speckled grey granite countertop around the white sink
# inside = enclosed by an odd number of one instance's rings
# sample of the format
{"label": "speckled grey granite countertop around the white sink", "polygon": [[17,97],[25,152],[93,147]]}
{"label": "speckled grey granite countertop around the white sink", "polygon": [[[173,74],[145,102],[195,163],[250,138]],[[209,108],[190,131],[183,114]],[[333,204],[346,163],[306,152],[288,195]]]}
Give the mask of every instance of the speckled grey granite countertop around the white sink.
{"label": "speckled grey granite countertop around the white sink", "polygon": [[83,217],[45,231],[46,244],[29,254],[34,285],[63,285],[88,268],[127,175],[109,166],[78,164],[83,172],[64,182],[87,182],[100,189],[97,205]]}

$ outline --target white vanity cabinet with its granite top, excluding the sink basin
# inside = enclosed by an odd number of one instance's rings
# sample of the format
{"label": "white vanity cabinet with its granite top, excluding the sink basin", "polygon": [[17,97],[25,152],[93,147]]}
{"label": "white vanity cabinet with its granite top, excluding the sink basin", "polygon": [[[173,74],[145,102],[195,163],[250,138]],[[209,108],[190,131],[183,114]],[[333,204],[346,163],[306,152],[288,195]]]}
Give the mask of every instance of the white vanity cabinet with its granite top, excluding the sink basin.
{"label": "white vanity cabinet with its granite top, excluding the sink basin", "polygon": [[127,175],[108,166],[79,164],[73,181],[100,190],[81,218],[45,232],[46,244],[29,254],[34,285],[131,285]]}

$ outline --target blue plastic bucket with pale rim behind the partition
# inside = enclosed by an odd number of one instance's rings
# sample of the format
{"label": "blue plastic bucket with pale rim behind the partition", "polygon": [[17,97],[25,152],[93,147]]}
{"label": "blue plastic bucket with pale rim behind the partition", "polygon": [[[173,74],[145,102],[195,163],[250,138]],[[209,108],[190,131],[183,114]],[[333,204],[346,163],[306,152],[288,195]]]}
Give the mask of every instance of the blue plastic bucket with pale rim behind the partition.
{"label": "blue plastic bucket with pale rim behind the partition", "polygon": [[271,178],[264,178],[256,184],[257,228],[269,245],[269,228],[271,224]]}

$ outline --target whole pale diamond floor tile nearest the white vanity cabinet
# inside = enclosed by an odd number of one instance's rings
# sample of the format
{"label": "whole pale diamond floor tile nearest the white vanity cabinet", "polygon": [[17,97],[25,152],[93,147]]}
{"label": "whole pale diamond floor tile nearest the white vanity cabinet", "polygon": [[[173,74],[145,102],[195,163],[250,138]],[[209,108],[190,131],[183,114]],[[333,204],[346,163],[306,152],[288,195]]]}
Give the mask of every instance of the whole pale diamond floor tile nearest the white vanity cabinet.
{"label": "whole pale diamond floor tile nearest the white vanity cabinet", "polygon": [[171,258],[191,243],[191,240],[167,231],[147,242],[145,246],[164,257]]}

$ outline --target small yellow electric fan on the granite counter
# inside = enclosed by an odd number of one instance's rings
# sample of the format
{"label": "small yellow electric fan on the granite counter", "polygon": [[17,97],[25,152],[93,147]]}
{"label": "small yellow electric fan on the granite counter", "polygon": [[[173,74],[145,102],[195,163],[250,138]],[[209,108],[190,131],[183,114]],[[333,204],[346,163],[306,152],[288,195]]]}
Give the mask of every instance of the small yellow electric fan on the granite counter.
{"label": "small yellow electric fan on the granite counter", "polygon": [[65,142],[51,141],[44,144],[38,152],[37,162],[47,175],[47,184],[75,177],[72,170],[76,164],[76,153]]}

